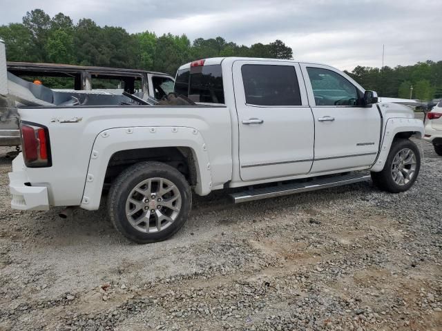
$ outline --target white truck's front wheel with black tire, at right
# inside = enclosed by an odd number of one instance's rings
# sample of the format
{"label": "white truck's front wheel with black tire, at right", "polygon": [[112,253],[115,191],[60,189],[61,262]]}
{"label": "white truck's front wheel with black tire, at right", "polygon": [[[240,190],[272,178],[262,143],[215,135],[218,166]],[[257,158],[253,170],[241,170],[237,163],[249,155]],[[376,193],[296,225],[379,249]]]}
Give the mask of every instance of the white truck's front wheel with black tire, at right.
{"label": "white truck's front wheel with black tire, at right", "polygon": [[[411,151],[409,154],[408,150]],[[401,157],[404,158],[404,162],[401,161]],[[371,173],[372,181],[381,190],[392,193],[404,192],[412,187],[420,169],[421,154],[416,144],[409,139],[397,139],[392,143],[383,170]]]}

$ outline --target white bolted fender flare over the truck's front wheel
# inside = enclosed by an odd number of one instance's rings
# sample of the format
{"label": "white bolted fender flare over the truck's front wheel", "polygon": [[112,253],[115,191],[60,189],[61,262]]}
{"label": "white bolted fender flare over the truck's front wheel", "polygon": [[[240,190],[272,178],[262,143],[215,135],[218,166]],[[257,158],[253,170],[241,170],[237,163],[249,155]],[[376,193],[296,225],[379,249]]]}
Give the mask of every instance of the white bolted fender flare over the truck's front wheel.
{"label": "white bolted fender flare over the truck's front wheel", "polygon": [[383,170],[388,154],[390,153],[390,148],[392,147],[394,137],[400,132],[416,132],[416,137],[421,139],[424,132],[423,121],[420,119],[388,119],[387,123],[385,123],[378,158],[376,159],[374,165],[372,165],[372,168],[370,168],[370,171],[380,172]]}

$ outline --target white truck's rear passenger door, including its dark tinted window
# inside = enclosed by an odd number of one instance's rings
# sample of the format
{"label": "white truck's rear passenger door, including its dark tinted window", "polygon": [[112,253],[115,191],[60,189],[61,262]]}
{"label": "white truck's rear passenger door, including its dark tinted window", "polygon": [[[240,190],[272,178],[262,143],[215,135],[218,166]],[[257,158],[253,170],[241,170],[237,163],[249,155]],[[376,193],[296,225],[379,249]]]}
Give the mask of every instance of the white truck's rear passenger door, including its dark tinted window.
{"label": "white truck's rear passenger door, including its dark tinted window", "polygon": [[314,118],[298,63],[238,60],[233,86],[243,181],[307,174]]}

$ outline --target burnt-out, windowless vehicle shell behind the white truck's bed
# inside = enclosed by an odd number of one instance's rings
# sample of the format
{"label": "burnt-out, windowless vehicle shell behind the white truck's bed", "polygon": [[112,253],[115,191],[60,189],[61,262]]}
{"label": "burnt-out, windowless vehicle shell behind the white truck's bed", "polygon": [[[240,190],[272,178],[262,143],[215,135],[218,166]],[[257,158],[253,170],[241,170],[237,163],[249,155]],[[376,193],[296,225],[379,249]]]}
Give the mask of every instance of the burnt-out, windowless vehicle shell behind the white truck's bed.
{"label": "burnt-out, windowless vehicle shell behind the white truck's bed", "polygon": [[[173,77],[161,72],[25,62],[7,62],[7,68],[10,81],[26,85],[26,88],[36,93],[37,99],[56,105],[66,100],[62,97],[50,99],[50,93],[41,92],[46,89],[39,86],[58,92],[58,96],[60,93],[76,96],[81,102],[88,95],[88,99],[95,99],[95,101],[89,100],[88,104],[103,105],[133,103],[128,97],[122,97],[123,92],[135,94],[142,99],[151,97],[157,100],[173,92]],[[93,97],[94,94],[108,95],[108,97],[97,98]],[[38,100],[36,103],[25,100],[23,104],[46,106]],[[16,101],[0,98],[0,146],[20,145],[18,121]]]}

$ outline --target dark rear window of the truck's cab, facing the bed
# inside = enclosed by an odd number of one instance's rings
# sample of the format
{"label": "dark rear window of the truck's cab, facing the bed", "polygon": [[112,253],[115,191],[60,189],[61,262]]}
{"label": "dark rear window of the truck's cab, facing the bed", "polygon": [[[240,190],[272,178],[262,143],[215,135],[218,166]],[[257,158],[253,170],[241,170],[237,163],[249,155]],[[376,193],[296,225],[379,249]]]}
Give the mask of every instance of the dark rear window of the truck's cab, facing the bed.
{"label": "dark rear window of the truck's cab, facing the bed", "polygon": [[195,102],[224,103],[221,65],[178,70],[174,91]]}

